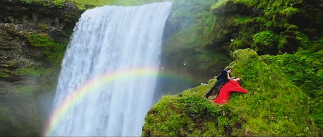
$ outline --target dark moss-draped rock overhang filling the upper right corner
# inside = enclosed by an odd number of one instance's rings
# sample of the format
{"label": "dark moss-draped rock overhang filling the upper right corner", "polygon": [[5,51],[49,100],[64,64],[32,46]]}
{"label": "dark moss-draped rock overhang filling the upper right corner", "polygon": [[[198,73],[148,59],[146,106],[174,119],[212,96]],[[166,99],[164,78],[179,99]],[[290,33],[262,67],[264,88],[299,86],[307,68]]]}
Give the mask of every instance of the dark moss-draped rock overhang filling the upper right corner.
{"label": "dark moss-draped rock overhang filling the upper right corner", "polygon": [[[242,47],[252,48],[258,54],[295,53],[298,47],[307,47],[308,40],[318,40],[322,35],[319,31],[322,26],[318,25],[323,21],[318,17],[323,14],[319,11],[320,5],[322,1],[318,0],[219,0],[211,7],[217,16],[216,42],[229,45],[232,51]],[[304,20],[311,23],[306,24]],[[256,44],[255,37],[268,31],[275,35],[268,39],[276,39],[272,47]],[[228,39],[239,39],[243,45],[228,44]]]}

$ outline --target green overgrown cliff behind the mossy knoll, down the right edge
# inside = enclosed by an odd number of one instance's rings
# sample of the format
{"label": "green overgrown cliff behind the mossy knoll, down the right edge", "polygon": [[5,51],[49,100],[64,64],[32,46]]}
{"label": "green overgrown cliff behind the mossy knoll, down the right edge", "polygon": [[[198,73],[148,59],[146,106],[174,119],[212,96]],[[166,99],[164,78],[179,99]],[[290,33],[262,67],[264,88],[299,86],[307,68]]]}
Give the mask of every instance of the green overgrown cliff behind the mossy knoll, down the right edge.
{"label": "green overgrown cliff behind the mossy knoll, down the right edge", "polygon": [[[214,30],[217,43],[228,45],[231,51],[252,48],[264,55],[261,58],[268,67],[311,98],[310,114],[322,130],[320,4],[315,0],[219,0],[211,10],[218,25]],[[227,44],[227,39],[235,40]]]}

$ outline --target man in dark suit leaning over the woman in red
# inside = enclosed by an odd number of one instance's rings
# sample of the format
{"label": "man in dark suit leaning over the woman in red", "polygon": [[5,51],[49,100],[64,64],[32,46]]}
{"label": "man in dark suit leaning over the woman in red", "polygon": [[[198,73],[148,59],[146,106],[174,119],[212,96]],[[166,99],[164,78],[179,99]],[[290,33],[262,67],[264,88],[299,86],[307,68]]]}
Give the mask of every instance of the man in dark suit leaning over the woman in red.
{"label": "man in dark suit leaning over the woman in red", "polygon": [[[232,72],[232,69],[228,69],[228,71],[221,70],[221,74],[217,77],[217,81],[214,83],[212,88],[208,92],[206,92],[206,94],[204,96],[206,98],[208,98],[212,94],[214,89],[217,86],[219,86],[216,90],[216,94],[218,95],[221,87],[229,81],[227,74],[229,74],[229,76],[231,77],[231,75],[230,75],[231,72]],[[231,78],[233,78],[233,77],[231,77]]]}

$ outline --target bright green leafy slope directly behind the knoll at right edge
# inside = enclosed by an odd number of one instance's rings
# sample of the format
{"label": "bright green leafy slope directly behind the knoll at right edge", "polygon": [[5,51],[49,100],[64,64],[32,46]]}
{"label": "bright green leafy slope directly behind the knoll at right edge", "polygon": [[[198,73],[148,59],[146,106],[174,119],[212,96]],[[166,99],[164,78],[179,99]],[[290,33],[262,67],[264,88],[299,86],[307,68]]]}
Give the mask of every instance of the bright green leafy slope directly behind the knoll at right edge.
{"label": "bright green leafy slope directly behind the knoll at right edge", "polygon": [[261,58],[311,98],[314,123],[323,129],[323,49],[318,52],[300,50],[295,54],[265,55]]}

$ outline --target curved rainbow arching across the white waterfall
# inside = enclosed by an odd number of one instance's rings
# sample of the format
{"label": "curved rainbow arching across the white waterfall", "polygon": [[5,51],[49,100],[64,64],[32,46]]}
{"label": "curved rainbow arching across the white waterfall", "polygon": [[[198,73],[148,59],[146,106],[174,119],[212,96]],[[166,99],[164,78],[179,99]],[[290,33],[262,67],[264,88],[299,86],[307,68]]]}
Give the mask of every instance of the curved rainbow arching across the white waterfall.
{"label": "curved rainbow arching across the white waterfall", "polygon": [[70,92],[70,94],[61,103],[59,103],[58,107],[56,107],[52,115],[49,117],[45,129],[42,132],[42,136],[51,136],[55,128],[58,126],[59,121],[64,117],[69,108],[74,106],[78,100],[81,100],[85,95],[87,95],[91,91],[94,91],[96,88],[105,86],[106,84],[109,84],[115,80],[141,76],[178,79],[187,83],[196,82],[188,76],[179,75],[178,73],[169,71],[160,72],[155,68],[137,68],[123,71],[119,70],[107,72],[102,76],[88,80],[83,86],[74,90],[73,92]]}

